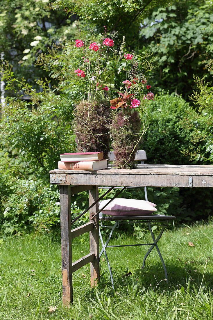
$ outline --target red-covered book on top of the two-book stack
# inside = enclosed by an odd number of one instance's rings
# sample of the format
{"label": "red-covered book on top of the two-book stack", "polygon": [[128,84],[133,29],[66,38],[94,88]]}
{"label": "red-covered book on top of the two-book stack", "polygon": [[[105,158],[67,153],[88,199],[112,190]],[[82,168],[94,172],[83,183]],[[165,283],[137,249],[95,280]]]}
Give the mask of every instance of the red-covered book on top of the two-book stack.
{"label": "red-covered book on top of the two-book stack", "polygon": [[103,160],[103,152],[80,152],[80,153],[61,153],[61,161],[70,162],[70,161],[97,161]]}

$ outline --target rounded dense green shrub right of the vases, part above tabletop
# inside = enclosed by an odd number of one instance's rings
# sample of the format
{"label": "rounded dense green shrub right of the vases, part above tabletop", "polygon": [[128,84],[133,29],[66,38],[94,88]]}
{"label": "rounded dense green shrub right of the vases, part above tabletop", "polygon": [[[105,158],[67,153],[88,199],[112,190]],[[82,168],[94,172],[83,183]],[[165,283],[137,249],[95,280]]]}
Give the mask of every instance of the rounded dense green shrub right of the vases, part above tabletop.
{"label": "rounded dense green shrub right of the vases, part above tabletop", "polygon": [[193,136],[193,128],[183,128],[180,121],[188,112],[196,114],[193,108],[175,94],[160,94],[147,105],[149,129],[144,137],[148,163],[187,164],[190,157],[181,153],[188,148]]}

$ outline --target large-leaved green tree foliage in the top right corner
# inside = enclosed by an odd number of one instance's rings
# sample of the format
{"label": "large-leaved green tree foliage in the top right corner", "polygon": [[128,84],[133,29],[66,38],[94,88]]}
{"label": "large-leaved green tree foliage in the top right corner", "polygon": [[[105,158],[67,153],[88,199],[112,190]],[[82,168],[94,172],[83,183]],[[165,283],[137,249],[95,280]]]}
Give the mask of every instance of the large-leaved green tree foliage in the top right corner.
{"label": "large-leaved green tree foliage in the top right corner", "polygon": [[168,88],[187,100],[193,74],[209,81],[205,65],[213,58],[212,9],[209,0],[179,1],[168,8],[156,6],[145,18],[140,38],[156,59],[150,74],[156,90]]}

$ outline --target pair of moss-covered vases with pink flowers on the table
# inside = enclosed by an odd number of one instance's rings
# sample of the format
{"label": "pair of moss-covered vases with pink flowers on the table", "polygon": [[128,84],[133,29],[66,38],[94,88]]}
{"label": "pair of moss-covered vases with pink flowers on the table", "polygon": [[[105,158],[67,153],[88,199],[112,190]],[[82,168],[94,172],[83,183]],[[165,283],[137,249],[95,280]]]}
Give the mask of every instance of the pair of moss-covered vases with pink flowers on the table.
{"label": "pair of moss-covered vases with pink flowers on the table", "polygon": [[[78,51],[72,58],[78,64],[74,74],[83,85],[82,101],[74,109],[72,126],[78,150],[87,152],[102,148],[107,157],[110,136],[115,166],[132,168],[139,142],[147,129],[145,104],[154,100],[154,94],[148,92],[151,86],[138,68],[135,52],[125,52],[125,37],[115,49],[117,32],[109,34],[105,27],[96,41],[91,30],[93,39],[86,44],[76,26],[81,39],[75,40],[74,47]],[[120,61],[117,70],[112,68],[115,59]],[[116,72],[123,73],[119,89],[115,88]],[[113,91],[116,96],[111,99]]]}

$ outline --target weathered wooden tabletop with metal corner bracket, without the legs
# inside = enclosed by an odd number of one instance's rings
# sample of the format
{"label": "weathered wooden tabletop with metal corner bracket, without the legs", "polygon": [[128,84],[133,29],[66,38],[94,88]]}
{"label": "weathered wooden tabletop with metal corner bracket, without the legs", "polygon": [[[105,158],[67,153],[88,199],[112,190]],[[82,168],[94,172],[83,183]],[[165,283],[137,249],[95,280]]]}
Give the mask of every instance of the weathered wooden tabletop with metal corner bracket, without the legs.
{"label": "weathered wooden tabletop with metal corner bracket, without the legs", "polygon": [[137,169],[50,171],[51,184],[90,186],[213,187],[212,165],[139,164]]}

